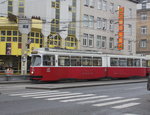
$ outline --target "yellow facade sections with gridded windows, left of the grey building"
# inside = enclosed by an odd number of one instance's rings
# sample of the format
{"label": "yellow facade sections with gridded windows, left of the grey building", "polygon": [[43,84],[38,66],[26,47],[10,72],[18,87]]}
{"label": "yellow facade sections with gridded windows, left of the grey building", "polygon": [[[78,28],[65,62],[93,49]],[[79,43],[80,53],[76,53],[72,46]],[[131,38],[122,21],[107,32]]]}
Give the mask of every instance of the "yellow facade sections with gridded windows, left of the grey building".
{"label": "yellow facade sections with gridded windows, left of the grey building", "polygon": [[[77,40],[74,35],[62,38],[59,33],[50,32],[47,37],[47,47],[77,49]],[[32,19],[31,32],[28,34],[27,43],[28,72],[30,66],[30,54],[33,49],[44,47],[42,34],[42,21]],[[0,70],[13,67],[19,73],[21,70],[22,35],[18,29],[18,23],[9,21],[7,17],[0,17]]]}

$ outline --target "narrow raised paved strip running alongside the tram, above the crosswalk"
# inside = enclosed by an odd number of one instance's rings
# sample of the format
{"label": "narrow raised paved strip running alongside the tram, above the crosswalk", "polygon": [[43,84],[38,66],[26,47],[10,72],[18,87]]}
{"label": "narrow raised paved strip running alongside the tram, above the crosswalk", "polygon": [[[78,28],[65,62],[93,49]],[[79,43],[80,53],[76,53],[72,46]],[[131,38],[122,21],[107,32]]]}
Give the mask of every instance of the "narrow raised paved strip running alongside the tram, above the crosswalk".
{"label": "narrow raised paved strip running alongside the tram, above the crosswalk", "polygon": [[147,78],[142,79],[128,79],[128,80],[100,80],[100,81],[87,81],[87,82],[71,82],[71,83],[49,83],[49,84],[34,84],[26,87],[26,89],[67,89],[67,88],[79,88],[79,87],[92,87],[92,86],[104,86],[104,85],[118,85],[118,84],[131,84],[131,83],[143,83],[147,82]]}

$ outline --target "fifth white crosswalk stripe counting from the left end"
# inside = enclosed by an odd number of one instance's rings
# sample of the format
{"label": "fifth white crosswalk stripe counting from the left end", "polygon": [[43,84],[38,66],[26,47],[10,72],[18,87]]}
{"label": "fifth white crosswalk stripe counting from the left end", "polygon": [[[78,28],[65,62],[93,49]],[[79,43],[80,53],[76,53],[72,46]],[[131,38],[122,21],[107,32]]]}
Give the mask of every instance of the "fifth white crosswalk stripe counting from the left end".
{"label": "fifth white crosswalk stripe counting from the left end", "polygon": [[73,101],[83,101],[83,100],[88,100],[88,99],[97,99],[97,98],[104,98],[104,97],[108,97],[107,95],[103,95],[103,96],[94,96],[94,97],[86,97],[86,98],[78,98],[78,99],[69,99],[69,100],[63,100],[60,102],[73,102]]}

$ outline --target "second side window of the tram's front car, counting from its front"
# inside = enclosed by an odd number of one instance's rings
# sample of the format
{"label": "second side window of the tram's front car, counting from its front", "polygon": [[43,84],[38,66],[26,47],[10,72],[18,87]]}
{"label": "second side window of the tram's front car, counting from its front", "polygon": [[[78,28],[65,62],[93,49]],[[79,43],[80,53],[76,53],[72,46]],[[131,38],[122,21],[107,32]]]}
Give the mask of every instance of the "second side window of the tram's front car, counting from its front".
{"label": "second side window of the tram's front car, counting from its front", "polygon": [[58,57],[59,66],[70,66],[70,56],[59,56]]}

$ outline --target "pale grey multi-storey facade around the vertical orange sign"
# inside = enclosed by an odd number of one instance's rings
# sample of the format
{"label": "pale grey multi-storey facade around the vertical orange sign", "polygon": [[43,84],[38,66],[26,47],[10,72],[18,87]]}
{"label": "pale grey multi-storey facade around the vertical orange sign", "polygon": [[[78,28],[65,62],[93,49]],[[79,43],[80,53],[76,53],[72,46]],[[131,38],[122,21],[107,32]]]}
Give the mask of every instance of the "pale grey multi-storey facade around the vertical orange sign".
{"label": "pale grey multi-storey facade around the vertical orange sign", "polygon": [[[119,7],[124,7],[124,47],[118,50]],[[108,54],[135,54],[136,4],[128,0],[83,0],[81,49]],[[87,20],[89,22],[87,22]]]}

